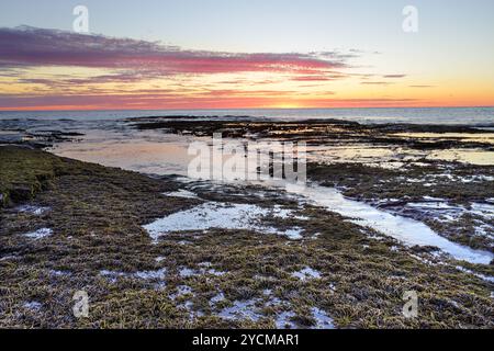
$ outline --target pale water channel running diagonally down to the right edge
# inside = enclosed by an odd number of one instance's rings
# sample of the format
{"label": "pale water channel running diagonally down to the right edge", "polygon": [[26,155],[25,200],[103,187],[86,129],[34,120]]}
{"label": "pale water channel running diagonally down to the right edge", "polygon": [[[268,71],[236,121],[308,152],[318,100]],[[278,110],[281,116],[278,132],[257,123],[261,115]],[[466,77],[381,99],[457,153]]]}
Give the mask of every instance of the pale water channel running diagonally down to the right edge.
{"label": "pale water channel running diagonally down to the right edge", "polygon": [[[437,247],[458,260],[472,263],[489,264],[494,258],[491,252],[473,250],[449,241],[422,222],[393,215],[368,204],[345,199],[341,193],[333,188],[319,185],[287,186],[287,191],[302,195],[332,212],[353,218],[352,223],[369,226],[407,246]],[[483,210],[485,211],[485,208]]]}

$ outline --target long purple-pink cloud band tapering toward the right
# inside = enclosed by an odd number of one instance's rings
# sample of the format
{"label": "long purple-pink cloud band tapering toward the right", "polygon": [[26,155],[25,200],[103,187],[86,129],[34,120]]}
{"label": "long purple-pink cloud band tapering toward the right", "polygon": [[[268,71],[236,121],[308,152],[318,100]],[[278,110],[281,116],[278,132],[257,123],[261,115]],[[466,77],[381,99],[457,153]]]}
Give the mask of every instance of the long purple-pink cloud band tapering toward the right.
{"label": "long purple-pink cloud band tapering toward the right", "polygon": [[0,29],[2,69],[76,66],[127,70],[146,77],[256,71],[307,75],[345,68],[346,59],[348,56],[329,52],[238,54],[188,50],[154,42],[58,30]]}

